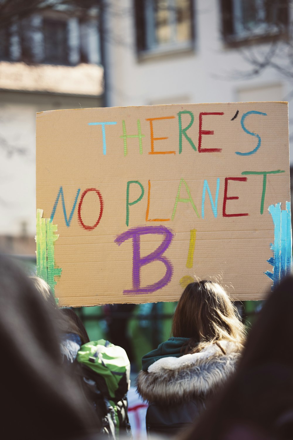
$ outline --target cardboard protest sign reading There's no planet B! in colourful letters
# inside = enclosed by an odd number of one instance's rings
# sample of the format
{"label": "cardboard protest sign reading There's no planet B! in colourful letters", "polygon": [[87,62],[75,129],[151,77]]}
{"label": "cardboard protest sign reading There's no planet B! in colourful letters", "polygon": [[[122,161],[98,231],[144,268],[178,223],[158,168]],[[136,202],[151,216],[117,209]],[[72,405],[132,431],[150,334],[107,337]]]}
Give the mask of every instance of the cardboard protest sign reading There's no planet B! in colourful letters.
{"label": "cardboard protest sign reading There's no planet B! in colourful letters", "polygon": [[37,272],[60,305],[176,301],[194,276],[261,299],[291,270],[287,103],[55,110],[36,134]]}

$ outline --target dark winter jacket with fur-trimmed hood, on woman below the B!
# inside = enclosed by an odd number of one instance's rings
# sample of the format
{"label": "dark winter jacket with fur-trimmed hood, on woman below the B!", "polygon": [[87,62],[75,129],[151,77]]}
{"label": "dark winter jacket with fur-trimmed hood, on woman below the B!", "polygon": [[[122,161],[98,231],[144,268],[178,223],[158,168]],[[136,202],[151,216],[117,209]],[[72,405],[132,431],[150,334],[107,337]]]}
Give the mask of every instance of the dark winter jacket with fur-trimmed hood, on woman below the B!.
{"label": "dark winter jacket with fur-trimmed hood, on woman below the B!", "polygon": [[[181,438],[203,413],[206,401],[233,374],[241,352],[236,344],[206,342],[200,352],[185,354],[187,338],[170,338],[142,359],[137,391],[149,403],[149,434]],[[192,351],[192,350],[191,350]]]}

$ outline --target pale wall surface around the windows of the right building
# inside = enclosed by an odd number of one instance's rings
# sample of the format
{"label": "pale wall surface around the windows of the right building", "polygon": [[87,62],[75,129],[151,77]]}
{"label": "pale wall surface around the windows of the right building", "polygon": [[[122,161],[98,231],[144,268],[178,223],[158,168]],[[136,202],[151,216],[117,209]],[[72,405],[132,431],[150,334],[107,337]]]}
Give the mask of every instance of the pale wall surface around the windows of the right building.
{"label": "pale wall surface around the windows of the right building", "polygon": [[[111,29],[107,45],[108,105],[287,100],[293,82],[286,81],[276,70],[267,69],[251,79],[241,79],[236,74],[250,70],[251,66],[244,61],[240,49],[224,48],[219,3],[217,0],[195,2],[194,50],[139,61],[133,2],[120,0],[124,14],[108,16]],[[115,44],[114,40],[119,43]],[[264,49],[264,45],[259,48]]]}

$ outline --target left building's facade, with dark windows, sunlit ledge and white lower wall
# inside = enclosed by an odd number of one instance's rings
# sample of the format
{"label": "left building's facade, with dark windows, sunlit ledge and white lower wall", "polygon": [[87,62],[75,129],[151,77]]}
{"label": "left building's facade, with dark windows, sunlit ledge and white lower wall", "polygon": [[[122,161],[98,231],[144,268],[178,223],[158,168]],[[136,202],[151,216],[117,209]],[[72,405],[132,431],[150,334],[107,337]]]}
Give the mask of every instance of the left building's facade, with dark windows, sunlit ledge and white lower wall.
{"label": "left building's facade, with dark windows, sunlit ledge and white lower wall", "polygon": [[36,11],[0,34],[0,235],[33,237],[36,112],[103,105],[98,17]]}

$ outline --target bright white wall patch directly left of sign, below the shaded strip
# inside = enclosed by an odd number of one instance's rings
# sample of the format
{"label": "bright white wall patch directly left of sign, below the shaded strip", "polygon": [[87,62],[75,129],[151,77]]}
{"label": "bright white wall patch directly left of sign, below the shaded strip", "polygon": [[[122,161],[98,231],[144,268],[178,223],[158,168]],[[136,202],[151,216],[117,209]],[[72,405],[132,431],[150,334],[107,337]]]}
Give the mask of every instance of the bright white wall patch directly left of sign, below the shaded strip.
{"label": "bright white wall patch directly left of sign, below the shaded strip", "polygon": [[[35,106],[0,105],[0,231],[1,235],[20,235],[22,222],[33,235],[35,211]],[[5,148],[4,148],[5,146]],[[16,148],[25,154],[7,153]]]}

